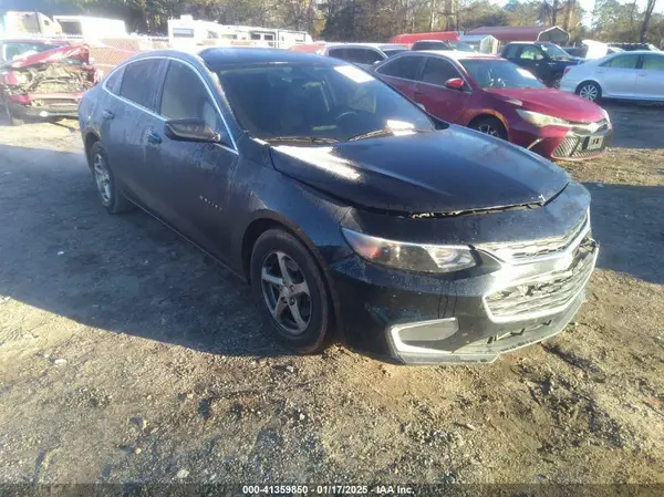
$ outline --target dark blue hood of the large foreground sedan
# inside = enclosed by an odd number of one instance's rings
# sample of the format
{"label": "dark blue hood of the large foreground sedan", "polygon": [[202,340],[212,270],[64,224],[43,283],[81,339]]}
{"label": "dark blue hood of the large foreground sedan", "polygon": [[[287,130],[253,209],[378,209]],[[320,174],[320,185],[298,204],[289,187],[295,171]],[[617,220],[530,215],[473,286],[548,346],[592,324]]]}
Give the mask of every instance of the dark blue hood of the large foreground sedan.
{"label": "dark blue hood of the large foreground sedan", "polygon": [[356,207],[402,214],[458,214],[544,204],[568,175],[552,163],[470,130],[273,146],[283,174]]}

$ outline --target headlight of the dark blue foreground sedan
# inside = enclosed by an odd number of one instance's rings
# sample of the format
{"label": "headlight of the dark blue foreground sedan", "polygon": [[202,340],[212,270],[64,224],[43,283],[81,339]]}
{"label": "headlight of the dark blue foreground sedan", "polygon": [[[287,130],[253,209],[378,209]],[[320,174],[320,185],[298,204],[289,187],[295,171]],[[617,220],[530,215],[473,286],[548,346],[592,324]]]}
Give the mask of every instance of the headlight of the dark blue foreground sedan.
{"label": "headlight of the dark blue foreground sedan", "polygon": [[417,272],[450,272],[476,265],[468,247],[407,244],[342,228],[355,253],[370,262]]}

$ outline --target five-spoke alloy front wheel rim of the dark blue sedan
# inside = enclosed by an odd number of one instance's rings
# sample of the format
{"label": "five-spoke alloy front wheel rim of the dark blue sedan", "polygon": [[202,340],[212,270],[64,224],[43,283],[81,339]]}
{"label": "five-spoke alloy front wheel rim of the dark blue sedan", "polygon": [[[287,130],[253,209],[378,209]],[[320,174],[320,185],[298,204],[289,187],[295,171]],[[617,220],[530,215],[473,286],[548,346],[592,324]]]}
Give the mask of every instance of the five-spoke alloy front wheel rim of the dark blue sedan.
{"label": "five-spoke alloy front wheel rim of the dark blue sedan", "polygon": [[311,320],[309,284],[298,263],[282,251],[269,252],[261,266],[262,294],[279,328],[299,335]]}

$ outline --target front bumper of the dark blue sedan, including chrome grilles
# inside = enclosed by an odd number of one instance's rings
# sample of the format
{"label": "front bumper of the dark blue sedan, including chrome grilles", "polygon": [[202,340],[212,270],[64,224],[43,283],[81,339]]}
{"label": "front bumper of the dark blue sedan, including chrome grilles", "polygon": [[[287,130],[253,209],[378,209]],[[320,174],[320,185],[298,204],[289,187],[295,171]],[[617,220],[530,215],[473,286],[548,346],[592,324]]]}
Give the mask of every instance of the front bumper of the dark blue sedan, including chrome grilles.
{"label": "front bumper of the dark blue sedan, including chrome grilles", "polygon": [[566,238],[544,241],[476,247],[492,269],[456,279],[407,276],[359,257],[340,261],[332,277],[344,339],[391,362],[444,364],[490,363],[553,336],[584,301],[599,246],[589,217]]}

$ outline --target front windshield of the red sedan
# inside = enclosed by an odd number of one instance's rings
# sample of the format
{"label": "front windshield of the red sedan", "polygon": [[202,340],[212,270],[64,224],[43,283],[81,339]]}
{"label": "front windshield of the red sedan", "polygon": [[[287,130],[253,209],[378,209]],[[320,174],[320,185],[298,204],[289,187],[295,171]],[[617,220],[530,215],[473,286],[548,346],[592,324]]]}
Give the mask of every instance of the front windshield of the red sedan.
{"label": "front windshield of the red sedan", "polygon": [[483,89],[543,89],[530,72],[499,59],[467,59],[459,61]]}

